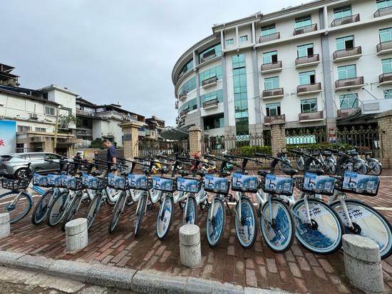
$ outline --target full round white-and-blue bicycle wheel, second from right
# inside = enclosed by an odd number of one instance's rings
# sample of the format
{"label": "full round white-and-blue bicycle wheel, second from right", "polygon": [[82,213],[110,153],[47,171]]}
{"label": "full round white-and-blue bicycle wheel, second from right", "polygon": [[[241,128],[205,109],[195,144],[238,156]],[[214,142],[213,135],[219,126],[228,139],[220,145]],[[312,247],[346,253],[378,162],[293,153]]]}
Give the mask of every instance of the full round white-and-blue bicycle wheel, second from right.
{"label": "full round white-and-blue bicycle wheel, second from right", "polygon": [[319,199],[309,198],[309,214],[304,199],[294,204],[292,212],[296,218],[296,239],[309,251],[317,254],[334,253],[341,248],[343,224],[338,214]]}

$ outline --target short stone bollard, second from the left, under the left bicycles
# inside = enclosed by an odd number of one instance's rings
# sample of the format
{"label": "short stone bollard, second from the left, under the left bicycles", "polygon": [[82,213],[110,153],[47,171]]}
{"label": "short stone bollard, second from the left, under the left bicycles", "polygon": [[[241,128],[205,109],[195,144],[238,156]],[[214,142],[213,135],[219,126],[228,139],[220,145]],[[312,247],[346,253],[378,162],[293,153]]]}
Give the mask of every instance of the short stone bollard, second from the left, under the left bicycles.
{"label": "short stone bollard, second from the left, under the left bicycles", "polygon": [[88,245],[86,218],[76,218],[66,223],[66,245],[68,253],[78,252]]}

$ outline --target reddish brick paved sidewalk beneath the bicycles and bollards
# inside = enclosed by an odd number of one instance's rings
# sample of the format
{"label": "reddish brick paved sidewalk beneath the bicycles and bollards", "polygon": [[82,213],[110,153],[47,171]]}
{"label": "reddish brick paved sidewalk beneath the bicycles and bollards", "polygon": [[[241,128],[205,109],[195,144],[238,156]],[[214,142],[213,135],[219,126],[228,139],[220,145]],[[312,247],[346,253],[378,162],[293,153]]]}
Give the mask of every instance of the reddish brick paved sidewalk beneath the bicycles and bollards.
{"label": "reddish brick paved sidewalk beneath the bicycles and bollards", "polygon": [[[361,197],[377,207],[392,208],[392,181],[381,181],[377,197]],[[230,207],[231,209],[233,206]],[[83,207],[80,216],[83,216]],[[178,229],[181,211],[176,206],[175,219],[164,241],[155,236],[155,218],[158,206],[148,211],[143,220],[140,236],[133,235],[135,206],[126,208],[117,230],[108,233],[112,207],[102,206],[96,222],[89,232],[89,244],[80,253],[64,253],[65,235],[60,228],[46,224],[34,226],[30,217],[12,225],[12,233],[1,240],[0,250],[12,250],[48,258],[86,260],[135,269],[153,269],[178,275],[219,280],[259,288],[280,288],[299,293],[361,293],[343,277],[343,255],[314,255],[294,242],[284,254],[273,253],[260,234],[254,247],[244,250],[234,233],[234,217],[227,213],[227,225],[222,243],[210,248],[205,238],[207,211],[199,210],[202,237],[202,265],[189,269],[180,265]],[[392,211],[383,211],[392,221]],[[392,258],[383,261],[386,290],[392,293]]]}

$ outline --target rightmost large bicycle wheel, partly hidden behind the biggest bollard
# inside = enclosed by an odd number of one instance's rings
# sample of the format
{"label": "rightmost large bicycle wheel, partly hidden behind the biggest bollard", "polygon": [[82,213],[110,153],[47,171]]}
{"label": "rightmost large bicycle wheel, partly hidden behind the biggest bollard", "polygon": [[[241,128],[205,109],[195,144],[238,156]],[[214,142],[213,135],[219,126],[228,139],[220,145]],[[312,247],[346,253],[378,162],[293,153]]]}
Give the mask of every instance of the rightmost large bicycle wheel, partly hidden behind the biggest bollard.
{"label": "rightmost large bicycle wheel, partly hidden behind the biggest bollard", "polygon": [[376,241],[380,246],[381,259],[392,254],[392,227],[391,223],[376,209],[361,201],[348,199],[345,201],[353,228],[349,227],[346,215],[342,209],[341,202],[331,204],[343,220],[345,233],[362,235]]}

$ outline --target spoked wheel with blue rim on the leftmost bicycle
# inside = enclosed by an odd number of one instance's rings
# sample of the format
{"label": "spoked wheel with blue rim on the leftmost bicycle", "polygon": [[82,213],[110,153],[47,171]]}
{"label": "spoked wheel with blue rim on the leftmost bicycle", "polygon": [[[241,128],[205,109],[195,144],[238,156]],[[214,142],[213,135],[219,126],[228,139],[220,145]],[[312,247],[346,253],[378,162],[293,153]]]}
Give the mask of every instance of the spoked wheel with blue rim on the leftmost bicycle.
{"label": "spoked wheel with blue rim on the leftmost bicycle", "polygon": [[0,213],[9,213],[10,223],[16,223],[27,216],[33,206],[33,199],[26,192],[22,192],[18,201],[13,203],[19,193],[10,191],[0,196]]}

